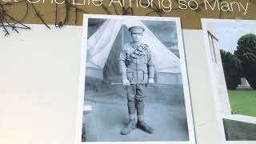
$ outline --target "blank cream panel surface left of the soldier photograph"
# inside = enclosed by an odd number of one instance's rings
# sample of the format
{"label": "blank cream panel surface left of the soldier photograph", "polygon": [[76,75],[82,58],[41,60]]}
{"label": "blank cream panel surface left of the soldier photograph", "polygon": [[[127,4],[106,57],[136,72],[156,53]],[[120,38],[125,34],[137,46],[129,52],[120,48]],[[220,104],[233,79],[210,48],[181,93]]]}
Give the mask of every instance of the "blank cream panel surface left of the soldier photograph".
{"label": "blank cream panel surface left of the soldier photograph", "polygon": [[0,38],[0,143],[74,143],[82,26],[30,26]]}

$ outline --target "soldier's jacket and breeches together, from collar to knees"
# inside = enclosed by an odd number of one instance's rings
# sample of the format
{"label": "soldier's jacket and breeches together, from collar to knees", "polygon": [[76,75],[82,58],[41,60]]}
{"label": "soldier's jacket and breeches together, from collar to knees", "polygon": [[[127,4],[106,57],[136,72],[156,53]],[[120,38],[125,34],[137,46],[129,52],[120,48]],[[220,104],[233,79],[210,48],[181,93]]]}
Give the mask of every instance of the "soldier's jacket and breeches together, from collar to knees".
{"label": "soldier's jacket and breeches together, from collar to knees", "polygon": [[[135,46],[126,43],[119,56],[119,68],[122,79],[130,83],[147,83],[149,78],[154,78],[154,63],[149,46],[144,43]],[[129,101],[142,101],[145,95],[146,84],[131,84],[126,86]]]}

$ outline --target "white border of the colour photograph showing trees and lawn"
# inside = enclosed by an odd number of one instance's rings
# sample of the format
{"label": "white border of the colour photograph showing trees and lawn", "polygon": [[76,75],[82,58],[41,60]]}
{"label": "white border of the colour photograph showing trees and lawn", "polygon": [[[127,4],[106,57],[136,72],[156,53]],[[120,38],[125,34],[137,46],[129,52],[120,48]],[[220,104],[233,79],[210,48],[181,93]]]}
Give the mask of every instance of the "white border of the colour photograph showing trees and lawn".
{"label": "white border of the colour photograph showing trees and lawn", "polygon": [[[208,39],[208,30],[207,30],[207,23],[245,23],[245,24],[255,24],[256,20],[241,20],[241,19],[218,19],[218,18],[201,18],[202,22],[202,32],[203,32],[203,38],[204,38],[204,47],[206,50],[206,57],[207,57],[207,64],[208,68],[210,70],[210,80],[211,80],[211,90],[214,93],[214,103],[215,103],[215,112],[217,114],[218,118],[218,129],[220,130],[222,142],[224,144],[254,144],[256,141],[226,141],[226,134],[224,130],[224,124],[223,124],[223,118],[226,118],[226,115],[219,114],[219,104],[218,104],[218,98],[216,98],[216,95],[218,95],[218,88],[217,83],[215,81],[215,74],[214,74],[214,68],[211,62],[211,52],[210,52],[210,42]],[[219,51],[218,51],[219,52]],[[223,72],[224,73],[224,72]]]}

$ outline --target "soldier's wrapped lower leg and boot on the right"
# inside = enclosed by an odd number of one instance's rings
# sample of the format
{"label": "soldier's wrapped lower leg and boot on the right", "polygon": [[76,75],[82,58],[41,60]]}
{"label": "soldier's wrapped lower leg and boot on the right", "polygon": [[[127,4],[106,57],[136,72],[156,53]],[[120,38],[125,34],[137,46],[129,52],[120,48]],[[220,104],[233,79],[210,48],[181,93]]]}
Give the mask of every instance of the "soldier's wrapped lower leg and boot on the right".
{"label": "soldier's wrapped lower leg and boot on the right", "polygon": [[144,102],[140,100],[136,101],[136,109],[138,114],[137,128],[145,131],[148,134],[153,134],[154,129],[148,126],[144,121]]}

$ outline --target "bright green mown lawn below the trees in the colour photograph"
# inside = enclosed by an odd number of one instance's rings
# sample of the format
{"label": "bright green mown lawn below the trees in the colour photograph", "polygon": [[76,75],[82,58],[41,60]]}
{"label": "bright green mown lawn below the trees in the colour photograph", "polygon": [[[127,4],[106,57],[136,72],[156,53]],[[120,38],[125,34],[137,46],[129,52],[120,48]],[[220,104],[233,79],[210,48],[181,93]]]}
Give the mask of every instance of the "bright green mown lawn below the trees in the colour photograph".
{"label": "bright green mown lawn below the trees in the colour photograph", "polygon": [[232,114],[256,117],[256,90],[228,90]]}

